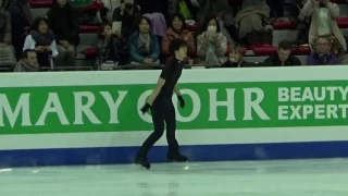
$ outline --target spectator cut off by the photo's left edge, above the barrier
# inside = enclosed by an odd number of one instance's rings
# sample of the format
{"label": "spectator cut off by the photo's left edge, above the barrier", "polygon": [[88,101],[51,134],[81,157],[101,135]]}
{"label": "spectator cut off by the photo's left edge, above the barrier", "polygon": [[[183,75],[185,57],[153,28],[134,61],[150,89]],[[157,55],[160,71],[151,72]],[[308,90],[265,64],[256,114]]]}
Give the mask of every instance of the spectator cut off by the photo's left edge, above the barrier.
{"label": "spectator cut off by the photo's left edge, above the barrier", "polygon": [[11,45],[11,19],[0,0],[0,66],[13,68],[16,63],[14,48]]}

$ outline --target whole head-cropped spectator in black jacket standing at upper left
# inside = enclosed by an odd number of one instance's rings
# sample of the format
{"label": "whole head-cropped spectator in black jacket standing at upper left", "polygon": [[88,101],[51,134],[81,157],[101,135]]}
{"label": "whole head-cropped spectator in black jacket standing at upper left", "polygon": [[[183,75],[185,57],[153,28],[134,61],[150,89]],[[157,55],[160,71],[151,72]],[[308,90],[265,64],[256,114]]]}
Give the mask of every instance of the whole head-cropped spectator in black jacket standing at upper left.
{"label": "whole head-cropped spectator in black jacket standing at upper left", "polygon": [[66,0],[54,0],[47,16],[57,39],[58,66],[75,66],[75,48],[79,42],[76,11]]}

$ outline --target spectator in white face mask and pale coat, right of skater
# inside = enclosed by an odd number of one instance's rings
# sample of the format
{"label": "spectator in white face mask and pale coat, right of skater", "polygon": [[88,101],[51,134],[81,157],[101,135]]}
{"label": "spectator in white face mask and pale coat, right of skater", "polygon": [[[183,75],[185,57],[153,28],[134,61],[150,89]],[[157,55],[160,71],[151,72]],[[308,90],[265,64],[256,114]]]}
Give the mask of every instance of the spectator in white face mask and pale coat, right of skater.
{"label": "spectator in white face mask and pale coat, right of skater", "polygon": [[227,38],[220,33],[220,26],[215,17],[207,20],[204,32],[197,37],[197,54],[210,65],[224,63],[227,50]]}

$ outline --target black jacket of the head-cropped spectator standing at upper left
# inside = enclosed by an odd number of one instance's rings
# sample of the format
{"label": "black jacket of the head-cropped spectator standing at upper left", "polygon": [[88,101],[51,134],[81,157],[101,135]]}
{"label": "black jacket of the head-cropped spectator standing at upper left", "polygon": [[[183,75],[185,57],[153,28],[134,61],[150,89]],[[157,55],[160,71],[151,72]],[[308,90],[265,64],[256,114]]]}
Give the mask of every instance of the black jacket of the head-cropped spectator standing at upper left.
{"label": "black jacket of the head-cropped spectator standing at upper left", "polygon": [[71,45],[79,44],[79,25],[77,19],[77,11],[69,3],[64,8],[60,8],[53,1],[52,8],[47,13],[49,26],[55,35],[57,44],[61,40],[67,40]]}

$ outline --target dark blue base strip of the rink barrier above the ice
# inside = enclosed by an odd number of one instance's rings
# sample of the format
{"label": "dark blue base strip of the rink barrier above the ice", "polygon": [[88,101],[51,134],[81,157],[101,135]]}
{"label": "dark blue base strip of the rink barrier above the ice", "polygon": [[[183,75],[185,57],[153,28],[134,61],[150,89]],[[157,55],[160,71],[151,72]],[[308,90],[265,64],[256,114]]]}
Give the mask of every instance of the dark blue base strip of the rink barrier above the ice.
{"label": "dark blue base strip of the rink barrier above the ice", "polygon": [[[138,147],[0,150],[0,167],[80,166],[132,163]],[[260,161],[348,157],[348,142],[270,143],[182,146],[195,161]],[[164,162],[167,148],[156,146],[148,158]]]}

